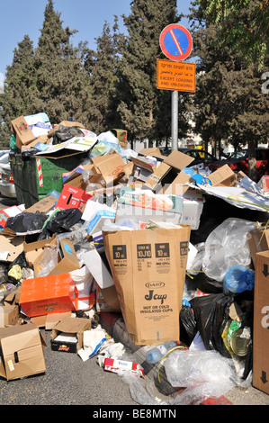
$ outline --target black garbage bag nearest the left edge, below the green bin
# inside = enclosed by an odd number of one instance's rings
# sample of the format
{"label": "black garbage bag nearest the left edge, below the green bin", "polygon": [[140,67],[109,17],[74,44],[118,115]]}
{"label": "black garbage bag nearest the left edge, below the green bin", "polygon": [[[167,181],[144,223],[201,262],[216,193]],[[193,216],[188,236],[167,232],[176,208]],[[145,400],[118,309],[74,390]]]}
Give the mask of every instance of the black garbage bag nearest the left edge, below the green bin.
{"label": "black garbage bag nearest the left edge, below the green bin", "polygon": [[12,229],[14,232],[32,232],[42,229],[47,219],[48,216],[43,213],[22,212],[8,218],[5,223],[5,228]]}

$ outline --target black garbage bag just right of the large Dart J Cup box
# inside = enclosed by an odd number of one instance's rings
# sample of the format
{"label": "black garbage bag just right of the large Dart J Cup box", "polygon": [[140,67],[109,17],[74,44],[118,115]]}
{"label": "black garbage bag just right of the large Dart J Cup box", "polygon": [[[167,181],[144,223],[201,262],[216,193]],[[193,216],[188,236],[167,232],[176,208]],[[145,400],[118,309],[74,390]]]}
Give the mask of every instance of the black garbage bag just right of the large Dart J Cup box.
{"label": "black garbage bag just right of the large Dart J Cup box", "polygon": [[227,358],[230,358],[229,351],[221,335],[229,319],[229,307],[232,302],[233,295],[226,293],[211,293],[190,301],[204,347],[219,351],[221,356]]}

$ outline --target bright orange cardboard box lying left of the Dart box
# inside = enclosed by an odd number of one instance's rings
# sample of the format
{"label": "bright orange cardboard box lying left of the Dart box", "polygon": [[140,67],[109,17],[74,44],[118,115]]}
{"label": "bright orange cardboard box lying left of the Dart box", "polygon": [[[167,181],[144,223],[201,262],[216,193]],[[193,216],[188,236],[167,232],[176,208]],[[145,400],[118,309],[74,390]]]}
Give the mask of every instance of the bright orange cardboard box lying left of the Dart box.
{"label": "bright orange cardboard box lying left of the Dart box", "polygon": [[71,275],[23,279],[20,305],[28,317],[75,311],[75,284]]}

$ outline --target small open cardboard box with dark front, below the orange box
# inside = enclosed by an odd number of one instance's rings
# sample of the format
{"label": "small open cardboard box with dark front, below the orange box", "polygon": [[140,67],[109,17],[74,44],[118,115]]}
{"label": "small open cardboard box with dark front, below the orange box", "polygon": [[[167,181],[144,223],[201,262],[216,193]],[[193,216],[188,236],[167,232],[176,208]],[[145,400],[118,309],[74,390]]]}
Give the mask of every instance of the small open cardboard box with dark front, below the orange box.
{"label": "small open cardboard box with dark front, below the orange box", "polygon": [[52,329],[50,345],[54,351],[76,353],[83,347],[83,332],[92,328],[89,319],[66,318]]}

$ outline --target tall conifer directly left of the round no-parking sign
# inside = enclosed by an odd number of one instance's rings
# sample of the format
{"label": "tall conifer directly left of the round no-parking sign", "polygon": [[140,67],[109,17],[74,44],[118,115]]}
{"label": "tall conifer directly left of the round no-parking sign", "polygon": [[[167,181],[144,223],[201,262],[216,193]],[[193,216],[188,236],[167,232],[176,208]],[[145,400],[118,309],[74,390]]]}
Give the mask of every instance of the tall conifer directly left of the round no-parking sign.
{"label": "tall conifer directly left of the round no-parking sign", "polygon": [[179,20],[176,1],[134,0],[130,9],[129,16],[123,15],[129,36],[122,50],[117,110],[130,140],[160,140],[171,133],[171,93],[157,90],[157,58],[164,58],[159,37],[167,24]]}

